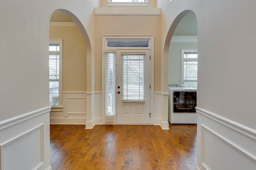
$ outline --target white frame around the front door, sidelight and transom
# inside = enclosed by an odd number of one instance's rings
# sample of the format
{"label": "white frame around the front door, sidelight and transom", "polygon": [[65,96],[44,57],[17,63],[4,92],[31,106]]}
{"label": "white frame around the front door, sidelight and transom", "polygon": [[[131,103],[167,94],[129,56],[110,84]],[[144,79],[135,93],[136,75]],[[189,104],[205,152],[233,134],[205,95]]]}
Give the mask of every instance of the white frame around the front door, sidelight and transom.
{"label": "white frame around the front door, sidelight and transom", "polygon": [[[146,40],[148,47],[108,47],[108,40]],[[134,49],[150,49],[150,124],[154,125],[154,35],[102,35],[102,124],[105,121],[105,57],[106,52],[115,51],[117,49],[134,50]],[[116,123],[116,121],[115,121]]]}

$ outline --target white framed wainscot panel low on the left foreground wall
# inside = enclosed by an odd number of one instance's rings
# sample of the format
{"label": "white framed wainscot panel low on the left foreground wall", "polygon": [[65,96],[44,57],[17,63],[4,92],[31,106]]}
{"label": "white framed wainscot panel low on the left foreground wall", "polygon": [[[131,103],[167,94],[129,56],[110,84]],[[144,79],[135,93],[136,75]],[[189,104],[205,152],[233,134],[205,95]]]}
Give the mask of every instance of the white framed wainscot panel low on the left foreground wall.
{"label": "white framed wainscot panel low on the left foreground wall", "polygon": [[[0,144],[2,169],[20,169],[20,164],[24,164],[28,169],[38,169],[44,163],[44,124],[34,127],[4,143]],[[37,139],[34,142],[34,139]],[[28,142],[30,141],[30,142]],[[33,156],[32,156],[33,155]],[[29,160],[27,158],[30,158]],[[6,159],[5,159],[6,158]],[[8,158],[18,160],[12,162]],[[29,168],[30,167],[30,168]]]}

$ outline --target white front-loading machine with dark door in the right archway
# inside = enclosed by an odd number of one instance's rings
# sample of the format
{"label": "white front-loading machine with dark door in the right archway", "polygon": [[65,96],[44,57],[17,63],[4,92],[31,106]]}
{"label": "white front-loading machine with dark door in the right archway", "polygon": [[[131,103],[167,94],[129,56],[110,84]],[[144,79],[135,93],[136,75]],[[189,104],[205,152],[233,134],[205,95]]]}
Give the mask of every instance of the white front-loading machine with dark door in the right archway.
{"label": "white front-loading machine with dark door in the right archway", "polygon": [[183,84],[169,84],[168,121],[181,124],[197,123],[196,88]]}

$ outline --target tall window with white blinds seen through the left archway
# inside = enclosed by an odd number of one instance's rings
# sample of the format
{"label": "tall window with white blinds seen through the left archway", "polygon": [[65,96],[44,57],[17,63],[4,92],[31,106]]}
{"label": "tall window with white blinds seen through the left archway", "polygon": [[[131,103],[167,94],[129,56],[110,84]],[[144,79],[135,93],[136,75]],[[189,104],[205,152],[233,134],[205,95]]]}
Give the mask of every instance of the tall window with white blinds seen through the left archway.
{"label": "tall window with white blinds seen through the left archway", "polygon": [[61,49],[62,40],[50,40],[49,43],[49,97],[50,106],[60,106],[61,84]]}

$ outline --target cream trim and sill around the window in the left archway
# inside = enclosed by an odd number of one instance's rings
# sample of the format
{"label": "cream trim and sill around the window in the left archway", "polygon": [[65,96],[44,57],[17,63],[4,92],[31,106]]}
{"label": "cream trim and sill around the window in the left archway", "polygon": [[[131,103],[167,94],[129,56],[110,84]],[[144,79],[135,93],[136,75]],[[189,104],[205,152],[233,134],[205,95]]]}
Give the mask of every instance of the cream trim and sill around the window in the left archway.
{"label": "cream trim and sill around the window in the left archway", "polygon": [[63,110],[63,99],[62,99],[62,50],[63,49],[62,49],[62,39],[50,39],[49,43],[58,43],[60,45],[60,51],[59,51],[59,55],[60,55],[59,106],[52,106],[51,111],[62,111]]}

